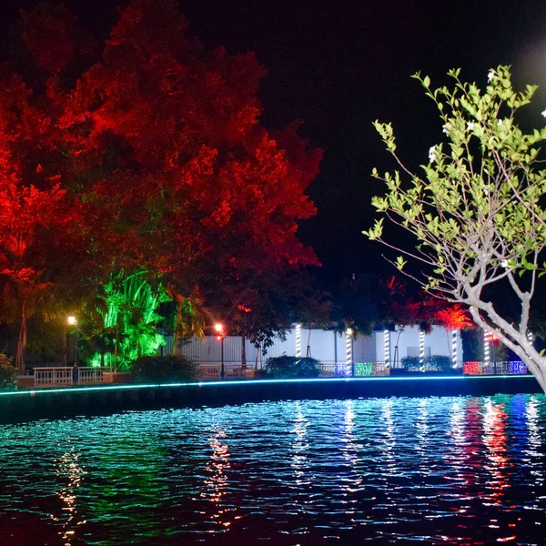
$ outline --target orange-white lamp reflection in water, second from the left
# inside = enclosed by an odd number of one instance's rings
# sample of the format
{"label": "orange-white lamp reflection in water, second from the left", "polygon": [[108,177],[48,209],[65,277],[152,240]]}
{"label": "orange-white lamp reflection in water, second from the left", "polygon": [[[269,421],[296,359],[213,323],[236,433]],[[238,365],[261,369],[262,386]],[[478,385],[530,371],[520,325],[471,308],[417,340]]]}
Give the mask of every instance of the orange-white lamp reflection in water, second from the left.
{"label": "orange-white lamp reflection in water, second from the left", "polygon": [[[207,490],[202,491],[200,496],[208,499],[213,505],[213,523],[221,526],[223,531],[229,531],[229,526],[233,519],[231,512],[235,512],[237,509],[235,506],[228,506],[224,500],[224,497],[227,495],[228,483],[226,470],[231,468],[226,430],[220,426],[216,426],[208,441],[212,453],[206,465],[208,478],[205,480],[205,485],[207,486]],[[217,531],[210,532],[214,533]]]}

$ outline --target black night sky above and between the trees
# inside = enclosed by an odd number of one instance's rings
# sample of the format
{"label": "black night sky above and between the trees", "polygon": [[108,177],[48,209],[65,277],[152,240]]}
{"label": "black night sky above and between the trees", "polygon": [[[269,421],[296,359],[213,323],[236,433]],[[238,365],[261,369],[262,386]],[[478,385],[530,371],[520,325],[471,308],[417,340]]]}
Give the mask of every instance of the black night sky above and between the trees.
{"label": "black night sky above and between the trees", "polygon": [[[105,31],[124,2],[66,4],[83,26]],[[4,5],[0,18],[13,22],[18,7],[31,5]],[[319,213],[299,233],[328,275],[365,270],[382,251],[360,233],[372,223],[370,197],[381,189],[371,168],[391,166],[371,121],[392,121],[400,155],[415,165],[440,139],[434,107],[411,74],[420,70],[440,83],[460,66],[463,77],[483,83],[490,66],[511,64],[525,83],[546,77],[541,1],[187,0],[180,12],[208,48],[256,52],[268,67],[260,91],[264,124],[302,119],[302,134],[325,150],[309,190]],[[534,116],[543,103],[546,93]]]}

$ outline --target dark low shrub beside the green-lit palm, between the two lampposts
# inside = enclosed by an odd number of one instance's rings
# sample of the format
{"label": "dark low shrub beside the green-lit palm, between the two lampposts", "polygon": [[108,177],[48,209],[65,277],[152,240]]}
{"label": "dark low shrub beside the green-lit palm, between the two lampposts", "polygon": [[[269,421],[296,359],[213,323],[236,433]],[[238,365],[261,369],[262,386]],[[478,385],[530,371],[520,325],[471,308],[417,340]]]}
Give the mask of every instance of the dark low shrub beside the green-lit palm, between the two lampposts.
{"label": "dark low shrub beside the green-lit palm, between the two lampposts", "polygon": [[141,357],[133,362],[131,373],[137,383],[195,381],[197,364],[186,357]]}

